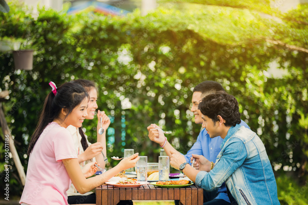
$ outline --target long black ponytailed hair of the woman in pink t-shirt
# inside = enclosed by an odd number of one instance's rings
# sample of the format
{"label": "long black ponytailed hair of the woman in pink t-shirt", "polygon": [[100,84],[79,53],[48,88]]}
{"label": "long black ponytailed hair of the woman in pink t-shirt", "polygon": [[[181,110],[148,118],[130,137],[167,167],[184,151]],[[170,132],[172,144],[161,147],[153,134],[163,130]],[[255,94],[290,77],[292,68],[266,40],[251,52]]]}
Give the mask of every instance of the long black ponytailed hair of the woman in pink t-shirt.
{"label": "long black ponytailed hair of the woman in pink t-shirt", "polygon": [[57,119],[62,108],[67,109],[67,117],[86,97],[89,98],[89,94],[81,85],[76,83],[64,83],[57,88],[56,95],[50,92],[45,99],[39,123],[31,136],[27,154],[30,155],[43,130],[54,119]]}

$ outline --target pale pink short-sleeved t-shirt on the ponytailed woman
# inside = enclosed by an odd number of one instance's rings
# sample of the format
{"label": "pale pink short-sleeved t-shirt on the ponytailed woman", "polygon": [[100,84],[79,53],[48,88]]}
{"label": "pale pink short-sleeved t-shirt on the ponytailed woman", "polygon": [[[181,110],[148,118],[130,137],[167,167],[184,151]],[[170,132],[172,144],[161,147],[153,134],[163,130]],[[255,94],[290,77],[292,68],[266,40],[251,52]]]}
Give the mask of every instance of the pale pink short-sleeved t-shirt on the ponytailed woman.
{"label": "pale pink short-sleeved t-shirt on the ponytailed woman", "polygon": [[62,162],[77,158],[71,133],[51,122],[30,154],[26,185],[19,203],[68,204],[66,191],[71,179]]}

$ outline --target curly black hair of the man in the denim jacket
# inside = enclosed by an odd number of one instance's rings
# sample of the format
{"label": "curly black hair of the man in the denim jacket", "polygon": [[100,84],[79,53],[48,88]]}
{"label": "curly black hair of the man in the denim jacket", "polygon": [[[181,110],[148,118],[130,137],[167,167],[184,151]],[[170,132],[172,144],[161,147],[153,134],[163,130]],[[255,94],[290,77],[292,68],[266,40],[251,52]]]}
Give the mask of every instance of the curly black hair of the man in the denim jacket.
{"label": "curly black hair of the man in the denim jacket", "polygon": [[208,116],[214,123],[218,121],[218,115],[226,120],[224,124],[227,127],[241,123],[241,114],[236,98],[224,91],[217,91],[202,98],[198,109],[202,115]]}

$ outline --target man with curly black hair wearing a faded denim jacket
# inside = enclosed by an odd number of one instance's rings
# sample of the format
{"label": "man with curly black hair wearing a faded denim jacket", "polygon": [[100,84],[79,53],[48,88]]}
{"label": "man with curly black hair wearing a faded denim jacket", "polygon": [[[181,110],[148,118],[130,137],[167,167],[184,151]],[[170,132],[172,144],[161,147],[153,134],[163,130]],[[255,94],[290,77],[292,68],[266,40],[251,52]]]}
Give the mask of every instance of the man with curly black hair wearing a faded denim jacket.
{"label": "man with curly black hair wearing a faded denim jacket", "polygon": [[202,127],[211,138],[221,136],[221,152],[213,163],[201,155],[199,170],[187,166],[182,155],[172,152],[170,164],[206,191],[213,191],[226,183],[238,204],[280,204],[277,185],[266,154],[257,134],[240,125],[238,102],[223,91],[202,99],[198,108],[202,113]]}

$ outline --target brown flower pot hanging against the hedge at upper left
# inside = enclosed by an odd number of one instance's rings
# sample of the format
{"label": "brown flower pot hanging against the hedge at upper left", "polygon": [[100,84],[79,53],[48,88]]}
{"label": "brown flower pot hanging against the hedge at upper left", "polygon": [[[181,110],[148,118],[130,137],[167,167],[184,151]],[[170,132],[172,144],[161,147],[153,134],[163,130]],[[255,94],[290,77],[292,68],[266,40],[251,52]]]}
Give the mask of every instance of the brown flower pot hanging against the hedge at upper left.
{"label": "brown flower pot hanging against the hedge at upper left", "polygon": [[33,69],[33,52],[34,50],[16,50],[13,51],[15,70],[32,70]]}

